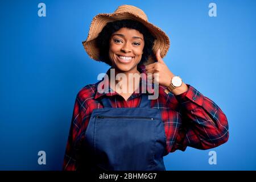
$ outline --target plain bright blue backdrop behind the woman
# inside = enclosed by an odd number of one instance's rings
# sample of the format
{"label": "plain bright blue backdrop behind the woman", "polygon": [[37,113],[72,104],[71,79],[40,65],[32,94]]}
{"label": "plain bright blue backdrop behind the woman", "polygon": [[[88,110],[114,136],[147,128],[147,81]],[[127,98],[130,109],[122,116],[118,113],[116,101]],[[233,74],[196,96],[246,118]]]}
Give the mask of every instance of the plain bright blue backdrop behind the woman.
{"label": "plain bright blue backdrop behind the woman", "polygon": [[[256,1],[0,2],[0,169],[60,170],[77,92],[97,82],[106,64],[82,47],[90,22],[119,5],[141,8],[164,30],[164,61],[211,98],[228,117],[229,141],[208,163],[209,151],[188,147],[164,158],[167,170],[255,170]],[[208,15],[209,3],[217,17]],[[38,151],[46,151],[46,165]]]}

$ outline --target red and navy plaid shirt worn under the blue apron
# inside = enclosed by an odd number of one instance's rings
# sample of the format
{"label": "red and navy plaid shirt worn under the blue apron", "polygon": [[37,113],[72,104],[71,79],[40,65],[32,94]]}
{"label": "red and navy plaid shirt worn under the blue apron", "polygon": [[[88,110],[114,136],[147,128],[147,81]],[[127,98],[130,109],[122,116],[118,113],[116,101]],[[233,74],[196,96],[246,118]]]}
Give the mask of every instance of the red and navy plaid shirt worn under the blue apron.
{"label": "red and navy plaid shirt worn under the blue apron", "polygon": [[[138,68],[141,73],[145,72],[144,66]],[[140,83],[142,81],[143,78]],[[79,144],[84,139],[93,109],[103,107],[100,102],[103,96],[110,98],[113,107],[138,107],[141,101],[141,92],[134,92],[127,101],[116,92],[99,93],[97,85],[100,82],[86,85],[76,96],[63,170],[76,170],[79,166]],[[144,89],[142,86],[140,84],[139,89]],[[159,97],[151,100],[151,108],[159,109],[162,114],[166,154],[184,151],[187,146],[207,150],[220,146],[229,138],[228,120],[220,107],[191,85],[187,86],[187,92],[175,96],[171,92],[166,94],[166,87],[159,85]]]}

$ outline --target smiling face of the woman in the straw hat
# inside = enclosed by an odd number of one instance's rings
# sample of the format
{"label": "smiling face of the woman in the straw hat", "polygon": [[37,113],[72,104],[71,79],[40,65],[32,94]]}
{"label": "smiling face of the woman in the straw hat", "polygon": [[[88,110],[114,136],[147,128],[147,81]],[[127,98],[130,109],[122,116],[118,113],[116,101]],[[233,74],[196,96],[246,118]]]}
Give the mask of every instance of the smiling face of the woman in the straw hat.
{"label": "smiling face of the woman in the straw hat", "polygon": [[110,37],[109,58],[119,72],[136,73],[141,61],[144,37],[139,31],[120,28]]}

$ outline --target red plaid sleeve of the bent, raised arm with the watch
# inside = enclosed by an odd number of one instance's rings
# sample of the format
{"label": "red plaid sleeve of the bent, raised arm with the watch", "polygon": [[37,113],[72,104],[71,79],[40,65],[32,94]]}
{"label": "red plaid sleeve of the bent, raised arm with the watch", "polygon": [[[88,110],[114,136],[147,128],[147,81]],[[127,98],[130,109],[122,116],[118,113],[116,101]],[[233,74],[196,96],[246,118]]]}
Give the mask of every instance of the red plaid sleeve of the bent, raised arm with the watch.
{"label": "red plaid sleeve of the bent, raised arm with the watch", "polygon": [[212,100],[188,85],[176,100],[181,105],[182,125],[170,152],[187,146],[207,150],[220,146],[229,138],[228,119]]}

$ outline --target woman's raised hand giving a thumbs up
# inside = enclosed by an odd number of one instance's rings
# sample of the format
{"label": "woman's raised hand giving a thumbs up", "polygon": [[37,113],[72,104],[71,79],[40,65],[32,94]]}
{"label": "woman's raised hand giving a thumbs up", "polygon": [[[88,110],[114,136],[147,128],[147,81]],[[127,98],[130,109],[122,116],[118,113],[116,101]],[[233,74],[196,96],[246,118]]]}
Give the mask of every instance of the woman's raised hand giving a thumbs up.
{"label": "woman's raised hand giving a thumbs up", "polygon": [[[160,56],[160,49],[156,51],[156,60],[158,62],[146,65],[146,73],[152,73],[152,82],[156,81],[159,85],[169,86],[171,78],[175,75],[170,71]],[[154,73],[158,73],[158,77],[154,77]]]}

